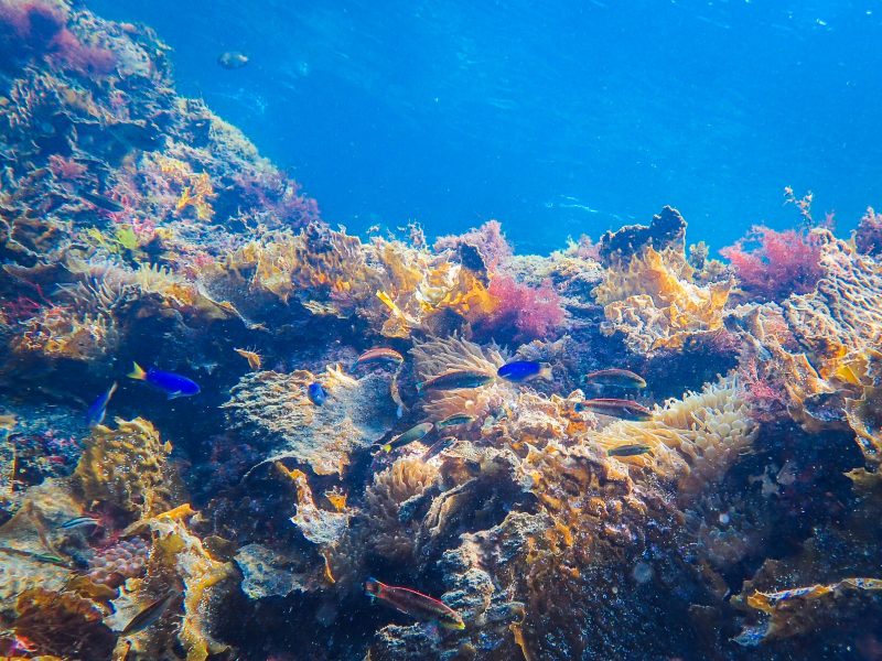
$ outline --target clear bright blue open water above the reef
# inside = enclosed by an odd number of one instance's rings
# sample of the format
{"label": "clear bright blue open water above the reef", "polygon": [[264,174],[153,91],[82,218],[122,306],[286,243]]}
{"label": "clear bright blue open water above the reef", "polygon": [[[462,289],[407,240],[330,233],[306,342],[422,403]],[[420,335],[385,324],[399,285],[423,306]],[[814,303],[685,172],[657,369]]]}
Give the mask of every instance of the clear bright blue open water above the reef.
{"label": "clear bright blue open water above the reef", "polygon": [[[88,0],[353,231],[488,218],[518,251],[665,205],[717,249],[882,205],[882,2]],[[216,64],[241,51],[248,66]]]}

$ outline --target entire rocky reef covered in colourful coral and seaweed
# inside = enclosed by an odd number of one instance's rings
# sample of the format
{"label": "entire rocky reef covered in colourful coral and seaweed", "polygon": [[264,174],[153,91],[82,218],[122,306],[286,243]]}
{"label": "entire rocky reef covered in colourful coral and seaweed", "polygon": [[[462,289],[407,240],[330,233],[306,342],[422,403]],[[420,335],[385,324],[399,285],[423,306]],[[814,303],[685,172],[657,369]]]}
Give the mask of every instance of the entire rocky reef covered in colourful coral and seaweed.
{"label": "entire rocky reef covered in colourful coral and seaweed", "polygon": [[359,238],[149,29],[0,0],[0,655],[880,658],[882,216],[788,195],[728,263]]}

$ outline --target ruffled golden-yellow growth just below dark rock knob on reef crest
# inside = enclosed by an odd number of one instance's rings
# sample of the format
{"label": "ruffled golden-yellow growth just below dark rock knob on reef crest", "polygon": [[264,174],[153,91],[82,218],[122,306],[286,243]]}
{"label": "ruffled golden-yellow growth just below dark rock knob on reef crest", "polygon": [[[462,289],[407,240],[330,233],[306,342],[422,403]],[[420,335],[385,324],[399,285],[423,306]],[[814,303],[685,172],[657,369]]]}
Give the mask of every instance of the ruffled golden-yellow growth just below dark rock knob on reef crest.
{"label": "ruffled golden-yellow growth just below dark rock knob on reef crest", "polygon": [[623,266],[613,266],[594,296],[604,306],[601,330],[625,333],[628,347],[641,354],[682,347],[698,333],[718,330],[730,283],[701,288],[691,282],[693,269],[681,251],[652,247]]}

